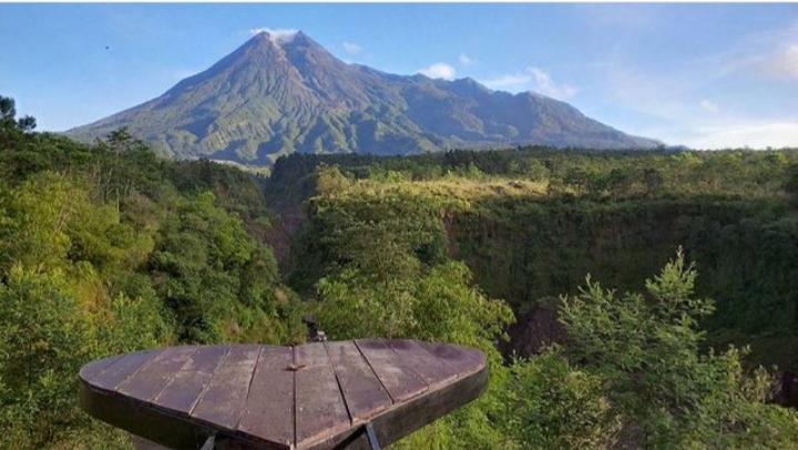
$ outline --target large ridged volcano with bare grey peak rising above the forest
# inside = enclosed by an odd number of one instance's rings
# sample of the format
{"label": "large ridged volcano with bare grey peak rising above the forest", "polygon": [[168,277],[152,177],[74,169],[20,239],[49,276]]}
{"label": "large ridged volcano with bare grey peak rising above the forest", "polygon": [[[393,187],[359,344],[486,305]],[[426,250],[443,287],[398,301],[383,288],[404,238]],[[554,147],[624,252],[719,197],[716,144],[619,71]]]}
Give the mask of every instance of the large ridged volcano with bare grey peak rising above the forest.
{"label": "large ridged volcano with bare grey peak rising above the forest", "polygon": [[307,34],[262,32],[163,95],[66,132],[91,141],[127,126],[178,158],[268,164],[291,152],[411,154],[540,144],[651,149],[567,103],[347,64]]}

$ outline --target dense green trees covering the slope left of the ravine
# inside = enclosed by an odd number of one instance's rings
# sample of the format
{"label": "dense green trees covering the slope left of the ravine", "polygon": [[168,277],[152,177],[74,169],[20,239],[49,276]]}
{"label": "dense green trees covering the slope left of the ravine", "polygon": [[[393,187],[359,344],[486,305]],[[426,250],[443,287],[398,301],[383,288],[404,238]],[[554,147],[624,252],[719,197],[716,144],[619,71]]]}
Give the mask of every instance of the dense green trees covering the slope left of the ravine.
{"label": "dense green trees covering the slope left of the ravine", "polygon": [[0,106],[0,449],[130,448],[78,408],[91,360],[200,340],[201,323],[215,341],[305,336],[252,176],[160,160],[126,130],[33,133]]}

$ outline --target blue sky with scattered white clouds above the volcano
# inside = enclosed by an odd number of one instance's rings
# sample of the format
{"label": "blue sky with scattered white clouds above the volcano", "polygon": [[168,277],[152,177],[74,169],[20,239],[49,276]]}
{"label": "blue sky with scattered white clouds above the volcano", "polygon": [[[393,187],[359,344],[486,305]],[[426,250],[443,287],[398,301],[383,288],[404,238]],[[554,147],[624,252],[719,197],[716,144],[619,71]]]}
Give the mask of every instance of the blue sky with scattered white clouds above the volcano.
{"label": "blue sky with scattered white clouds above the volcano", "polygon": [[45,131],[153,99],[269,29],[385,72],[535,91],[667,144],[798,146],[798,3],[1,3],[0,18],[0,94]]}

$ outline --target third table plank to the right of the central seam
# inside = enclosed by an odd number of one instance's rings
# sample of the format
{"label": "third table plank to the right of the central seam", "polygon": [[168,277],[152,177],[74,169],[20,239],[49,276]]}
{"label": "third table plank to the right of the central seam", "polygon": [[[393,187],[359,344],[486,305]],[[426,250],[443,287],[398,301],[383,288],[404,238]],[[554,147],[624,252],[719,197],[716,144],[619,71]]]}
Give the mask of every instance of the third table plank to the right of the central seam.
{"label": "third table plank to the right of the central seam", "polygon": [[355,344],[393,402],[409,400],[428,389],[424,380],[407,367],[383,340],[359,339]]}

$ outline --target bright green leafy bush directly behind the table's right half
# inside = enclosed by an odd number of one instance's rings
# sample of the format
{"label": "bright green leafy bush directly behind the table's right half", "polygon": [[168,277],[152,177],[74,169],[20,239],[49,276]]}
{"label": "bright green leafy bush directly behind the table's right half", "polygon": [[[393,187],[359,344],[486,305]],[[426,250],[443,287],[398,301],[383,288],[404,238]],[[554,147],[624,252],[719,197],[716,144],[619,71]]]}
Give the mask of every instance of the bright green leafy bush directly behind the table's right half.
{"label": "bright green leafy bush directly behind the table's right half", "polygon": [[415,275],[385,282],[354,270],[319,282],[319,327],[332,339],[362,337],[413,338],[474,346],[489,357],[489,393],[472,406],[420,430],[397,444],[403,448],[492,449],[502,441],[492,419],[499,413],[500,379],[505,369],[493,346],[512,313],[469,286],[469,270],[444,263]]}

